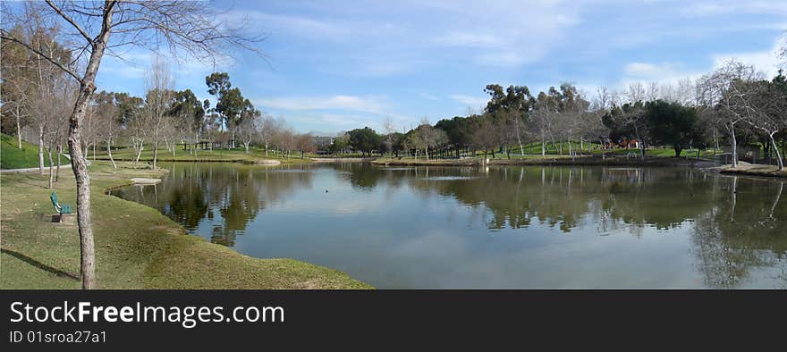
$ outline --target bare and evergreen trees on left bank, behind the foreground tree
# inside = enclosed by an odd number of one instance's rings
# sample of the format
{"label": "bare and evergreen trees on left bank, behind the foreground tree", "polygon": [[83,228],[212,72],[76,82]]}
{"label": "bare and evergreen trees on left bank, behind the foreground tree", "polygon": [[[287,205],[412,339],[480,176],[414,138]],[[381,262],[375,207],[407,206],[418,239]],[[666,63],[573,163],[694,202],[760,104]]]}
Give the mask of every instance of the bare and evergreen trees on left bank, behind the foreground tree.
{"label": "bare and evergreen trees on left bank, behind the foreground tree", "polygon": [[[31,22],[38,23],[38,22]],[[37,50],[47,51],[60,64],[72,63],[72,56],[61,46],[55,28],[18,25],[10,29],[15,38],[32,43]],[[4,40],[2,43],[3,81],[2,131],[38,144],[38,167],[44,173],[44,158],[53,162],[63,153],[67,138],[69,110],[79,85],[55,63],[41,60],[26,47]],[[97,149],[114,163],[112,150],[129,147],[134,162],[139,163],[143,150],[151,150],[152,168],[157,167],[159,149],[175,155],[183,150],[197,155],[199,149],[235,148],[246,153],[252,146],[263,147],[280,156],[292,151],[314,151],[312,138],[290,127],[283,117],[262,113],[241,89],[233,87],[229,74],[213,72],[205,78],[206,92],[213,99],[200,101],[190,88],[176,90],[170,67],[154,59],[145,75],[145,96],[128,92],[101,90],[90,96],[81,131],[83,155],[95,158]],[[116,165],[115,165],[116,167]],[[59,167],[50,171],[56,181]],[[52,184],[50,182],[50,188]]]}

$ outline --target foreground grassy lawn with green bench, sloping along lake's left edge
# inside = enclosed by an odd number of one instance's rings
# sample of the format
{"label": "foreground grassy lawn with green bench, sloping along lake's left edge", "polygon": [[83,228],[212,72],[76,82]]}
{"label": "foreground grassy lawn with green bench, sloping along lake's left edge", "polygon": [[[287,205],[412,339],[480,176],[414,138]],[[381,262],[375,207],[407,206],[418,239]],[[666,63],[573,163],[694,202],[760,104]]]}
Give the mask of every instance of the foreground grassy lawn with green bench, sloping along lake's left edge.
{"label": "foreground grassy lawn with green bench, sloping along lake's left edge", "polygon": [[[90,166],[98,286],[102,289],[369,289],[332,269],[292,259],[258,259],[212,244],[145,205],[108,196],[105,190],[131,177],[157,172],[120,163]],[[42,220],[52,214],[46,176],[4,174],[0,226],[0,287],[79,289],[80,249],[76,225]],[[55,188],[75,205],[71,172]]]}

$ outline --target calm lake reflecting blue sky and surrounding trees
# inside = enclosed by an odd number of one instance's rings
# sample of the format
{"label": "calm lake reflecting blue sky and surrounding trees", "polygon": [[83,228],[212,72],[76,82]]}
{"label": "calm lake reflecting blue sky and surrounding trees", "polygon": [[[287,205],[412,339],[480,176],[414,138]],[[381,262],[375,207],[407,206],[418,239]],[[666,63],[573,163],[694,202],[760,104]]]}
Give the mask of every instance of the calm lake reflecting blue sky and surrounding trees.
{"label": "calm lake reflecting blue sky and surrounding trees", "polygon": [[787,287],[783,180],[688,168],[170,163],[117,197],[381,289]]}

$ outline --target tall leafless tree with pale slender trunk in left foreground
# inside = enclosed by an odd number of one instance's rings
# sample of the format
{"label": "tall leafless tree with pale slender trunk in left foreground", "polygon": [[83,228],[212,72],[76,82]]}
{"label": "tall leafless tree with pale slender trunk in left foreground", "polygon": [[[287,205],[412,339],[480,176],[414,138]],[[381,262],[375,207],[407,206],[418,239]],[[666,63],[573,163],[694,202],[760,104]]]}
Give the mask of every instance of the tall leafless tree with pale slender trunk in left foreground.
{"label": "tall leafless tree with pale slender trunk in left foreground", "polygon": [[[82,130],[89,98],[96,90],[96,75],[101,59],[121,46],[169,47],[173,54],[180,49],[198,59],[212,59],[227,53],[226,46],[250,48],[254,38],[235,34],[223,21],[217,21],[207,2],[201,1],[54,1],[36,6],[42,21],[62,24],[63,37],[72,39],[72,54],[82,60],[84,71],[60,63],[26,38],[9,30],[16,23],[32,21],[18,16],[3,4],[3,28],[0,38],[26,47],[44,60],[70,75],[80,84],[79,95],[69,117],[68,146],[72,171],[77,182],[77,222],[80,230],[80,274],[82,288],[97,288],[93,226],[90,214],[90,178],[82,153]],[[111,40],[112,39],[112,40]]]}

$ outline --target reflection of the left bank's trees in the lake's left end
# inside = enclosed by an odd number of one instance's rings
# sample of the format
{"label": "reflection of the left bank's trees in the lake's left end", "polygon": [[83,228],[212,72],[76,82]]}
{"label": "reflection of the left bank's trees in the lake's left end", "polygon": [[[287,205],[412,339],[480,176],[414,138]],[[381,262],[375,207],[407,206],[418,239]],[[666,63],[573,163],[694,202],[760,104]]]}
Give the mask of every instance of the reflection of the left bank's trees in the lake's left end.
{"label": "reflection of the left bank's trees in the lake's left end", "polygon": [[[173,163],[157,186],[115,189],[117,197],[155,207],[193,232],[203,219],[214,222],[210,241],[228,247],[268,205],[298,188],[309,188],[311,172],[299,168],[224,163]],[[141,189],[141,190],[140,190]],[[165,191],[159,192],[159,189]]]}

